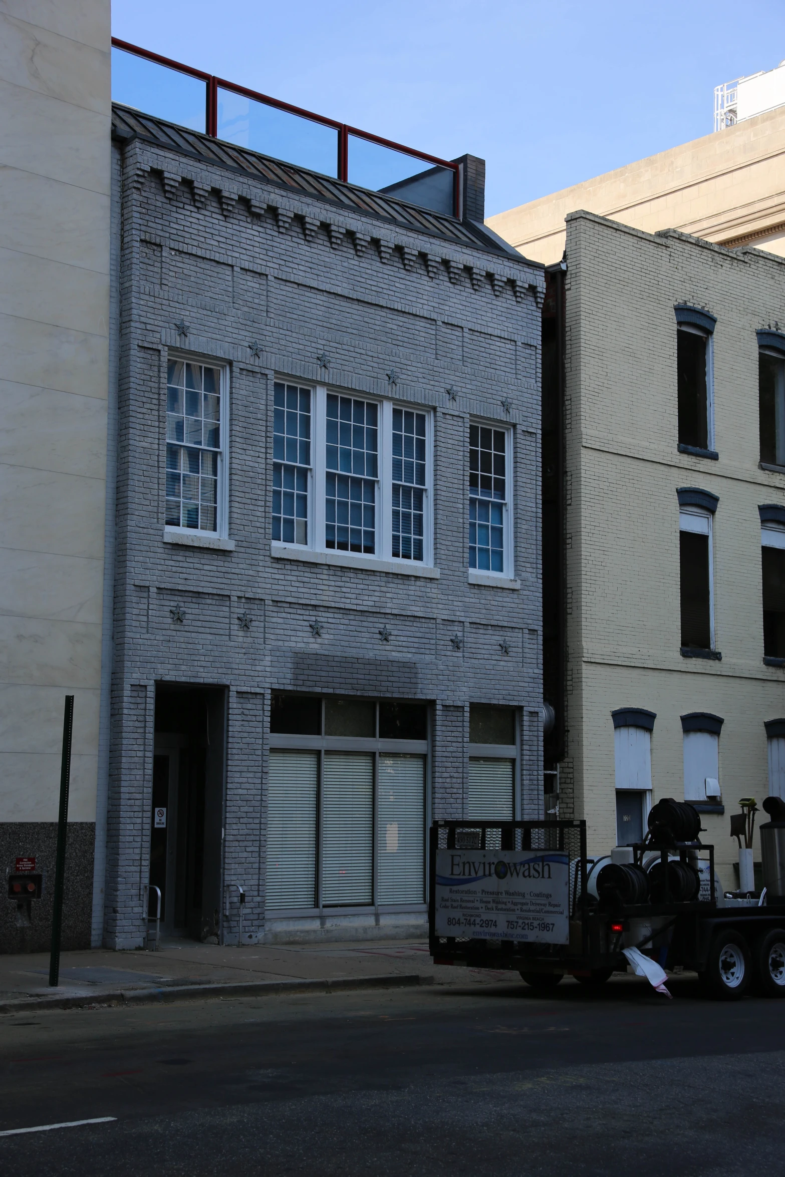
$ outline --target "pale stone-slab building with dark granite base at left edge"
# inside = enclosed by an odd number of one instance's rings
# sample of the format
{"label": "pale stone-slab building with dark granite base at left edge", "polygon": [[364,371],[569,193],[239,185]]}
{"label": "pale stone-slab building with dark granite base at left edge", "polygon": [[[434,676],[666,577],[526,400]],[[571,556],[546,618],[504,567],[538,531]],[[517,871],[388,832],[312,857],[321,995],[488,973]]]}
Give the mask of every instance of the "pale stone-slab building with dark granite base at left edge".
{"label": "pale stone-slab building with dark granite base at left edge", "polygon": [[[35,857],[44,916],[64,697],[74,694],[66,945],[89,938],[106,773],[109,36],[108,0],[0,11],[0,862]],[[4,946],[46,946],[36,935],[28,906],[4,902]]]}

